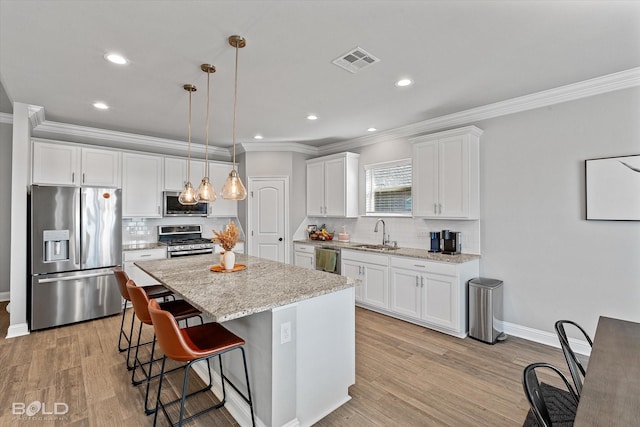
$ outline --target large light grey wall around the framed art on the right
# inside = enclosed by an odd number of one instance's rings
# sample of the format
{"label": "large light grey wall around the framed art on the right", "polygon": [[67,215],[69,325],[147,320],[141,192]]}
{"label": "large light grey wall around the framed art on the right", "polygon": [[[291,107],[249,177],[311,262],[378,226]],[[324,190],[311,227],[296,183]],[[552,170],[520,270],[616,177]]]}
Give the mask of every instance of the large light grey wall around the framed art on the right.
{"label": "large light grey wall around the framed art on the right", "polygon": [[640,321],[640,223],[586,221],[584,160],[640,154],[640,89],[477,123],[482,274],[504,280],[507,322]]}

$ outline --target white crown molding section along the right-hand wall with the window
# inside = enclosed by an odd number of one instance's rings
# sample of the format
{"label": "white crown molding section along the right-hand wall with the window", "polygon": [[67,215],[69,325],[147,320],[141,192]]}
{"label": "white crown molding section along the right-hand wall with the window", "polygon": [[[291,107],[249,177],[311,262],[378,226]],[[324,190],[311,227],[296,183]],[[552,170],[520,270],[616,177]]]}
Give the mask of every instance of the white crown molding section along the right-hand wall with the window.
{"label": "white crown molding section along the right-hand wall with the window", "polygon": [[547,107],[589,96],[640,86],[640,67],[424,120],[388,131],[323,146],[321,154],[351,150],[390,139],[406,138],[481,120]]}

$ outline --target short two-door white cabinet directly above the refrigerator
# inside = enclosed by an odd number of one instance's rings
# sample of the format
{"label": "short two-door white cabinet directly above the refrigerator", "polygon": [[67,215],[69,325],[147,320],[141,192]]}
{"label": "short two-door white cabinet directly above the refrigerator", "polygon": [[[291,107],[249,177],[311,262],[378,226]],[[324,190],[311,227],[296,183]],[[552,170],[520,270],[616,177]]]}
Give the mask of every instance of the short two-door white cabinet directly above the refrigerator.
{"label": "short two-door white cabinet directly above the refrigerator", "polygon": [[33,184],[121,187],[120,152],[33,142]]}

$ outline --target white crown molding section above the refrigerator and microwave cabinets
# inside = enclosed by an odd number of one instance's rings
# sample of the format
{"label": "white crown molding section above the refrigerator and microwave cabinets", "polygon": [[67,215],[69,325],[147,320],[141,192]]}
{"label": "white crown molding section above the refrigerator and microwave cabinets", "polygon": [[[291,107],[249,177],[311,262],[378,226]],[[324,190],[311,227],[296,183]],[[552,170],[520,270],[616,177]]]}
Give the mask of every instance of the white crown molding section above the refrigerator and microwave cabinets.
{"label": "white crown molding section above the refrigerator and microwave cabinets", "polygon": [[[35,129],[37,136],[51,138],[56,136],[60,139],[71,139],[74,141],[86,141],[87,139],[105,142],[107,146],[121,146],[132,150],[140,151],[160,151],[160,152],[187,152],[188,143],[173,139],[157,138],[153,136],[138,135],[113,130],[91,128],[87,126],[72,125],[47,121]],[[205,154],[205,146],[202,144],[191,144],[191,152]],[[231,158],[229,149],[209,145],[209,154],[217,157]]]}

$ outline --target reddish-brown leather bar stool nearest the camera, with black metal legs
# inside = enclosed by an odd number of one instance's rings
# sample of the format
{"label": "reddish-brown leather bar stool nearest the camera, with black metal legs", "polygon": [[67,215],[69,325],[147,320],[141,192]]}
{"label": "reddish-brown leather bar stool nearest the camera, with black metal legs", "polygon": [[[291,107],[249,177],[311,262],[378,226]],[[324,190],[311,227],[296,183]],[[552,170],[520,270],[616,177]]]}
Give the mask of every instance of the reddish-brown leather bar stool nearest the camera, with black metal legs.
{"label": "reddish-brown leather bar stool nearest the camera, with black metal legs", "polygon": [[[251,423],[256,425],[255,416],[253,414],[253,400],[251,399],[251,386],[249,385],[249,372],[247,370],[247,358],[244,352],[245,341],[227,330],[219,323],[205,323],[203,325],[191,326],[187,328],[180,328],[176,319],[171,316],[171,313],[162,309],[156,301],[149,303],[149,314],[153,320],[153,328],[156,331],[158,337],[158,345],[164,352],[162,358],[162,371],[160,373],[160,384],[158,385],[158,398],[156,400],[156,410],[153,419],[153,425],[156,425],[158,419],[158,408],[162,408],[162,412],[167,417],[167,420],[172,426],[181,426],[183,422],[190,421],[195,417],[198,417],[204,413],[207,413],[213,409],[218,409],[224,406],[226,402],[225,382],[227,382],[233,389],[238,392],[240,396],[249,404],[249,410],[251,411]],[[244,395],[238,388],[224,375],[222,370],[222,355],[232,350],[239,349],[242,352],[242,362],[244,364],[244,374],[247,382],[247,394]],[[218,362],[220,364],[220,377],[222,378],[222,400],[220,403],[213,405],[207,409],[204,409],[190,417],[184,418],[184,406],[186,398],[192,396],[201,391],[206,391],[211,386],[211,367],[209,359],[218,356]],[[165,363],[167,358],[178,361],[187,362],[185,366],[184,381],[182,385],[182,396],[180,399],[163,403],[161,400],[162,382],[165,373]],[[209,366],[209,387],[206,387],[198,392],[186,395],[187,384],[189,382],[189,369],[191,366],[201,360],[207,361]],[[171,420],[171,417],[167,413],[166,406],[180,402],[180,418],[177,423]]]}

